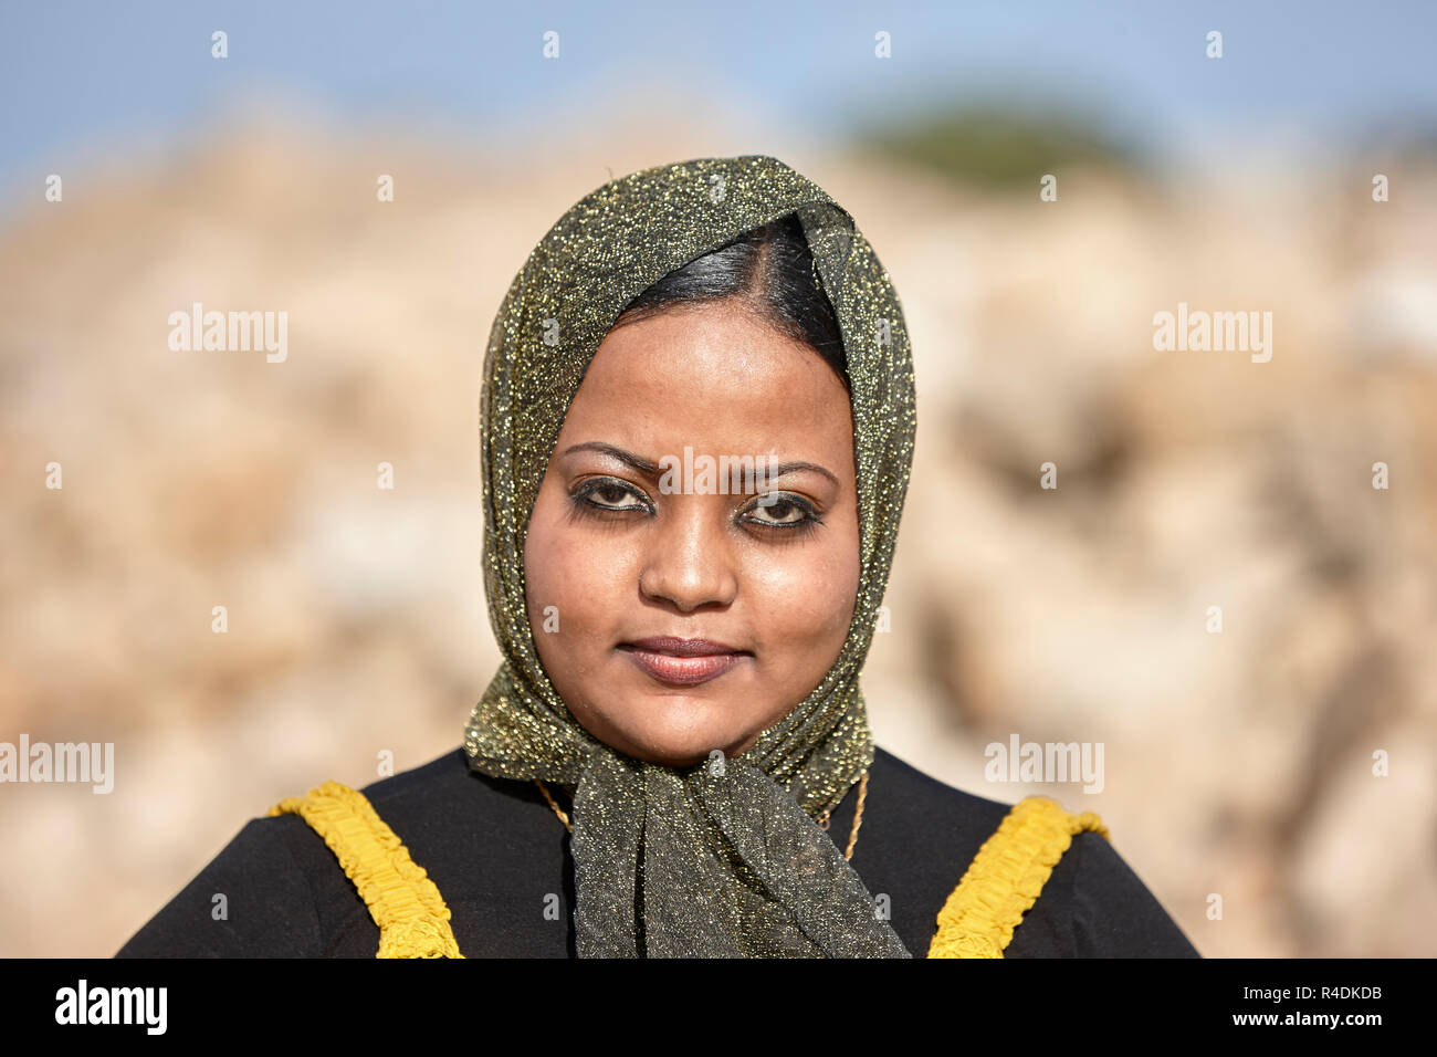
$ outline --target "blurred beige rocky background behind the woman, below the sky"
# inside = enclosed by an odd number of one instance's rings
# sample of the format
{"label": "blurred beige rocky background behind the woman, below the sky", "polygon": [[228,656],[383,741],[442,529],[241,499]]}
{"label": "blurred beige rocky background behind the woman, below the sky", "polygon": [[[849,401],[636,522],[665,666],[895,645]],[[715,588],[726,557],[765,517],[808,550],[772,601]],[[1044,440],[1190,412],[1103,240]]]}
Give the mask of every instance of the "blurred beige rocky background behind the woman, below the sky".
{"label": "blurred beige rocky background behind the woman, below the sky", "polygon": [[[114,742],[116,778],[0,785],[0,955],[108,956],[277,800],[460,743],[499,657],[499,301],[593,187],[750,152],[856,216],[914,344],[878,743],[1098,811],[1204,955],[1437,951],[1431,139],[1203,167],[963,99],[822,137],[683,93],[598,114],[456,141],[260,98],[9,194],[0,741]],[[287,360],[171,351],[194,302],[286,311]],[[1180,302],[1270,311],[1272,360],[1157,351]],[[1101,742],[1102,791],[989,781],[1012,735]]]}

